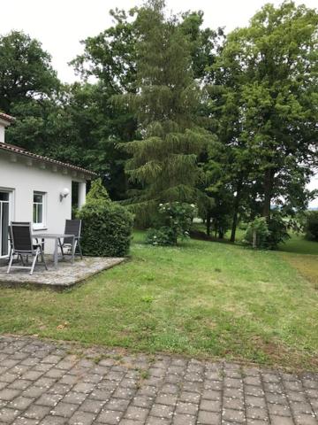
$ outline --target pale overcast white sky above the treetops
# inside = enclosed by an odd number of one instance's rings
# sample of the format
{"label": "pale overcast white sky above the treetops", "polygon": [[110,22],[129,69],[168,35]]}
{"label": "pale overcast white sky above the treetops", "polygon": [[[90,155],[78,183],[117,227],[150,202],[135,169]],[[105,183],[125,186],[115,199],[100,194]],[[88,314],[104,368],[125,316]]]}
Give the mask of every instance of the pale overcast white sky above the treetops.
{"label": "pale overcast white sky above the treetops", "polygon": [[[130,9],[140,0],[0,0],[0,34],[23,30],[42,42],[52,56],[52,65],[58,77],[65,82],[76,79],[67,63],[82,52],[80,40],[100,33],[111,24],[109,10]],[[266,0],[166,0],[168,10],[185,12],[202,10],[204,25],[225,27],[226,32],[242,27]],[[281,4],[279,0],[270,3]],[[318,8],[318,0],[296,0]],[[318,188],[318,178],[311,189]],[[312,205],[318,206],[318,199]]]}

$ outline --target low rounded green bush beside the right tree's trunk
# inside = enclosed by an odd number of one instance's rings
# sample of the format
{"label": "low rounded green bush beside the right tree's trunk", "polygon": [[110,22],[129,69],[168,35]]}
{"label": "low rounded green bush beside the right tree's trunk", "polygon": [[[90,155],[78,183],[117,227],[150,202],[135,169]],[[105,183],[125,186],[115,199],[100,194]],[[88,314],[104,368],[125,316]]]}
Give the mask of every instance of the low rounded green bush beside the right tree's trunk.
{"label": "low rounded green bush beside the right tree's trunk", "polygon": [[283,243],[290,236],[287,224],[278,213],[272,213],[269,222],[264,217],[256,217],[246,229],[245,241],[267,250],[275,250],[278,243]]}

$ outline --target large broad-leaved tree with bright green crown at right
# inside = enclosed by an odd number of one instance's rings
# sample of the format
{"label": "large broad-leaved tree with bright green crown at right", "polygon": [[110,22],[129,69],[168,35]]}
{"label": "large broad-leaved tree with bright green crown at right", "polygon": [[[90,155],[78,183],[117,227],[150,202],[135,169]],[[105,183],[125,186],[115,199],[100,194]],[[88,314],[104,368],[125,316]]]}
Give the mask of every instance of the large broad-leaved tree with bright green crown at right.
{"label": "large broad-leaved tree with bright green crown at right", "polygon": [[305,208],[316,164],[317,13],[265,5],[228,35],[211,66],[211,113],[220,149],[211,157],[231,188],[231,240],[239,213],[270,219]]}

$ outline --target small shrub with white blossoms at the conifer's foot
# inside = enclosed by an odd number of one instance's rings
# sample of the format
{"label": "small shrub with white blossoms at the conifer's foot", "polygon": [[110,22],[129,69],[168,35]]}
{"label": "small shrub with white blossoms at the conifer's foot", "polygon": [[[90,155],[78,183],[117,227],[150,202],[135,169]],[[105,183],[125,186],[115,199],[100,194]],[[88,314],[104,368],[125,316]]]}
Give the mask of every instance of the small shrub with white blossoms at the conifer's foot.
{"label": "small shrub with white blossoms at the conifer's foot", "polygon": [[148,230],[147,243],[175,245],[178,243],[178,239],[189,237],[193,218],[197,214],[195,205],[178,201],[160,204],[158,213],[163,225]]}

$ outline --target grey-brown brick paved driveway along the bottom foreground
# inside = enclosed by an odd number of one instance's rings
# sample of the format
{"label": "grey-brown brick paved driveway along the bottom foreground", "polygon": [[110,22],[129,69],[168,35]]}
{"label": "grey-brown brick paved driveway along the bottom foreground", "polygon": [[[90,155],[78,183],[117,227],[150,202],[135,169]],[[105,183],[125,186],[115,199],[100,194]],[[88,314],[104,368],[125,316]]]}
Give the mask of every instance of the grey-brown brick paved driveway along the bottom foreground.
{"label": "grey-brown brick paved driveway along the bottom foreground", "polygon": [[318,423],[318,375],[0,336],[0,425]]}

